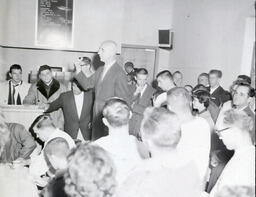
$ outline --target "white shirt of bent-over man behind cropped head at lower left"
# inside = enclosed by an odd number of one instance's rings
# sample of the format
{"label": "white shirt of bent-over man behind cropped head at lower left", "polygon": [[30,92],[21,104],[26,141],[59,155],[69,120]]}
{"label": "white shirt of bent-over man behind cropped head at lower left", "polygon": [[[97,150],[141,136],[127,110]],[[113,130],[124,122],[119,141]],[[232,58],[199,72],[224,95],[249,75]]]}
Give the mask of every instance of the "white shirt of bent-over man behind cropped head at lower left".
{"label": "white shirt of bent-over man behind cropped head at lower left", "polygon": [[[66,132],[61,131],[59,129],[55,129],[55,131],[49,136],[49,139],[44,143],[44,147],[50,140],[57,138],[57,137],[64,138],[67,141],[69,148],[74,148],[76,146],[74,140],[71,138],[71,136],[69,134],[67,134]],[[45,161],[43,151],[44,151],[44,148],[39,153],[39,155],[31,156],[31,164],[29,166],[29,173],[33,177],[40,177],[41,175],[45,174],[49,169],[49,167]]]}

